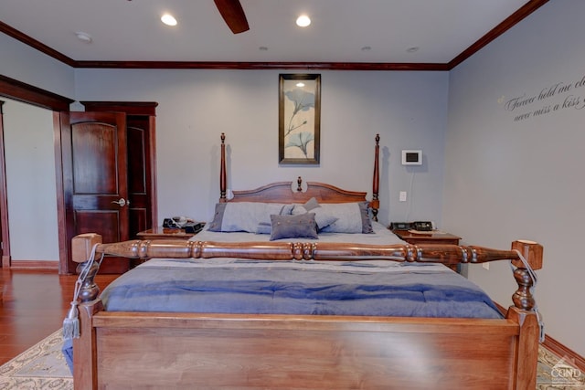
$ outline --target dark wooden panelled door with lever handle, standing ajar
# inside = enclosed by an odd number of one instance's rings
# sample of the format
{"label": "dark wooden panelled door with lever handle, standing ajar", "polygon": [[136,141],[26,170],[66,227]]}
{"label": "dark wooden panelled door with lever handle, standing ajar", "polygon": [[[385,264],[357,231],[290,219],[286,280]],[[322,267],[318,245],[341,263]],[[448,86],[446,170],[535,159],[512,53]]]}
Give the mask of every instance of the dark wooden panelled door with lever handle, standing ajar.
{"label": "dark wooden panelled door with lever handle, standing ajar", "polygon": [[[126,115],[71,112],[69,124],[70,151],[64,151],[64,165],[69,164],[70,171],[64,166],[64,177],[73,227],[68,242],[88,232],[101,234],[104,243],[130,239]],[[122,273],[128,268],[127,259],[105,258],[100,271]]]}

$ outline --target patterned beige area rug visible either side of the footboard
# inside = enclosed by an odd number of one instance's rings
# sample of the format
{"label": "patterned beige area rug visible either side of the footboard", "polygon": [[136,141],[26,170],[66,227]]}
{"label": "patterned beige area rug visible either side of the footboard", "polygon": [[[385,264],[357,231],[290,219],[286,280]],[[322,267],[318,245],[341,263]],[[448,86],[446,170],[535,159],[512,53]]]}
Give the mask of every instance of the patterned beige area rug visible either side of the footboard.
{"label": "patterned beige area rug visible either side of the footboard", "polygon": [[[61,353],[61,330],[0,367],[0,390],[71,390],[73,379]],[[585,373],[567,358],[538,350],[537,390],[585,390]]]}

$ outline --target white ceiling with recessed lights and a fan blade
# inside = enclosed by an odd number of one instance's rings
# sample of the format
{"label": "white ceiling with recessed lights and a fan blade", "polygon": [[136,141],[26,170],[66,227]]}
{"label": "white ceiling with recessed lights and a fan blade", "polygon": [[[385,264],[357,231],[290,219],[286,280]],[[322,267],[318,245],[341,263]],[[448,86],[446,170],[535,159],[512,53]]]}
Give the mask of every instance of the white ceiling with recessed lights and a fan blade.
{"label": "white ceiling with recessed lights and a fan blade", "polygon": [[[212,0],[1,0],[0,31],[75,67],[237,62],[441,69],[547,1],[240,0],[250,30],[233,34]],[[166,12],[177,26],[161,23]],[[312,24],[296,26],[300,14]]]}

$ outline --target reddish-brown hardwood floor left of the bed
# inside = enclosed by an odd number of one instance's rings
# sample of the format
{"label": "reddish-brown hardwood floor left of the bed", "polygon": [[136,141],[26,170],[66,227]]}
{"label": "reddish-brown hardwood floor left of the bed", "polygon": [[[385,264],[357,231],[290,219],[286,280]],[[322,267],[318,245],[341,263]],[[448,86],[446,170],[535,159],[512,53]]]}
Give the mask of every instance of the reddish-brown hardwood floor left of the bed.
{"label": "reddish-brown hardwood floor left of the bed", "polygon": [[[98,275],[103,290],[118,275]],[[76,275],[0,269],[0,364],[57,331],[70,308]]]}

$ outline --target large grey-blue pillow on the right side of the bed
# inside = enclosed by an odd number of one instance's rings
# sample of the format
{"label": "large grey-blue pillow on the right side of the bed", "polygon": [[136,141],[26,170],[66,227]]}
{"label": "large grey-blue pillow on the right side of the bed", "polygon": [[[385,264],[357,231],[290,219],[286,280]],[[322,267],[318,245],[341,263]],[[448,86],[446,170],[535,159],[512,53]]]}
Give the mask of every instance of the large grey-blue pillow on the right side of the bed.
{"label": "large grey-blue pillow on the right side of the bed", "polygon": [[367,205],[367,202],[321,205],[327,213],[337,217],[334,223],[321,231],[324,233],[373,233],[372,222],[367,214]]}

